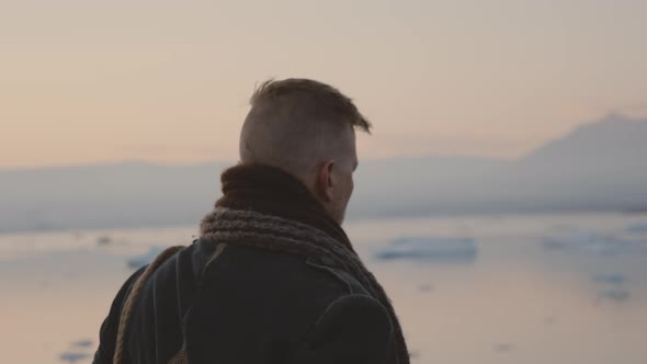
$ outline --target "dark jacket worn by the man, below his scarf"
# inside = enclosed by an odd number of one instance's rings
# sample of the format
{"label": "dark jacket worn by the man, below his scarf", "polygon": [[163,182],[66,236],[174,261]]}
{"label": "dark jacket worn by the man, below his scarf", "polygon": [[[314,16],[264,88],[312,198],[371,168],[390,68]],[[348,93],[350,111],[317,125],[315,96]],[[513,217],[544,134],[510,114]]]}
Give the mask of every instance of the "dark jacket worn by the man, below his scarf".
{"label": "dark jacket worn by the man, below his scarf", "polygon": [[[383,305],[332,260],[196,240],[163,263],[137,298],[125,363],[387,363]],[[218,253],[216,253],[218,251]],[[95,364],[112,363],[124,284],[101,327]]]}

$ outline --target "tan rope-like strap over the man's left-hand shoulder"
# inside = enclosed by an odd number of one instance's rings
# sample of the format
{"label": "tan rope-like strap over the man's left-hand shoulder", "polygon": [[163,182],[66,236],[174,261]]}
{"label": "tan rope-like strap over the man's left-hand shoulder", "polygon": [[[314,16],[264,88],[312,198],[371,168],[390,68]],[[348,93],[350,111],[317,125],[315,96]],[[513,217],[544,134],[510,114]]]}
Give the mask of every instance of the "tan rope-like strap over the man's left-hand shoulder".
{"label": "tan rope-like strap over the man's left-hand shoulder", "polygon": [[125,341],[124,337],[126,333],[126,327],[128,326],[128,321],[130,320],[130,312],[133,311],[133,306],[135,304],[135,300],[137,299],[137,296],[139,296],[141,291],[144,289],[144,285],[145,285],[146,281],[148,281],[148,278],[152,275],[152,273],[155,273],[155,271],[163,262],[169,260],[169,258],[173,257],[175,253],[178,253],[182,249],[184,249],[184,247],[175,246],[175,247],[170,247],[170,248],[166,249],[164,251],[162,251],[161,253],[159,253],[159,255],[157,255],[155,258],[155,260],[150,264],[148,264],[146,270],[144,270],[144,273],[141,273],[141,275],[135,281],[135,283],[133,283],[133,287],[130,288],[130,292],[128,293],[128,296],[126,297],[126,300],[125,300],[124,306],[122,308],[122,315],[120,317],[120,327],[117,330],[117,338],[116,338],[116,343],[115,343],[113,364],[123,364],[123,362],[124,362],[124,341]]}

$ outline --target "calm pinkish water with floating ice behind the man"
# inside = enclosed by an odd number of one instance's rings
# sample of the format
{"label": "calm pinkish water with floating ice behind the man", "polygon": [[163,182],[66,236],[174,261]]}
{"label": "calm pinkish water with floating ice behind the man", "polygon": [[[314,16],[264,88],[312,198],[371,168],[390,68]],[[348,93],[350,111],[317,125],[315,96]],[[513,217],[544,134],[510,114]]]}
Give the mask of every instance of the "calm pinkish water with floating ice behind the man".
{"label": "calm pinkish water with floating ice behind the man", "polygon": [[[415,363],[647,363],[645,215],[372,220],[347,230],[389,292]],[[127,262],[194,234],[0,236],[5,362],[89,363]],[[430,240],[413,258],[377,258],[404,236]],[[444,238],[472,250],[452,251]]]}

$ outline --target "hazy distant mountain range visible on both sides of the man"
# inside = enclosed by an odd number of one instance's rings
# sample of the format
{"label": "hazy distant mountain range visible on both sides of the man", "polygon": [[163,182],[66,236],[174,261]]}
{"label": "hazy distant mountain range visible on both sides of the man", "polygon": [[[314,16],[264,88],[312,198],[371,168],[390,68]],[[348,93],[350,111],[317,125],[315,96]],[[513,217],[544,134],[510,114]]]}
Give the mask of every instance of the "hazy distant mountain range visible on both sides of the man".
{"label": "hazy distant mountain range visible on both sides of the man", "polygon": [[[609,115],[519,160],[362,161],[349,218],[647,207],[647,120]],[[225,163],[0,170],[0,232],[197,224]]]}

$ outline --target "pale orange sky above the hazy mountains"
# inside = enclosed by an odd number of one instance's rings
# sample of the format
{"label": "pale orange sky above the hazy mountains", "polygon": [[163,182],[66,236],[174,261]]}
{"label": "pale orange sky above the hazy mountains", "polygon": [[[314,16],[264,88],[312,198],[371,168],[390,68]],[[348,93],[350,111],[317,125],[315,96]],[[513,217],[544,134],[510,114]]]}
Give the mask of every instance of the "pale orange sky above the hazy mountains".
{"label": "pale orange sky above the hazy mountains", "polygon": [[0,168],[232,161],[254,84],[308,77],[360,155],[515,158],[647,115],[647,1],[0,3]]}

